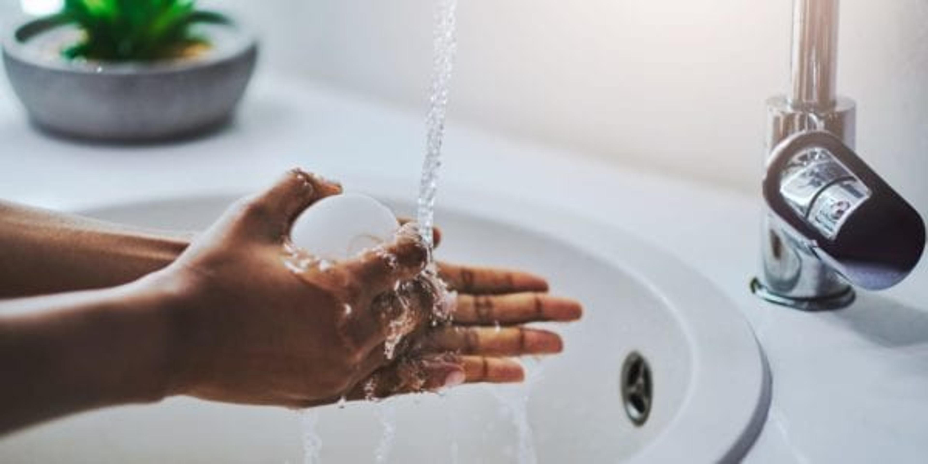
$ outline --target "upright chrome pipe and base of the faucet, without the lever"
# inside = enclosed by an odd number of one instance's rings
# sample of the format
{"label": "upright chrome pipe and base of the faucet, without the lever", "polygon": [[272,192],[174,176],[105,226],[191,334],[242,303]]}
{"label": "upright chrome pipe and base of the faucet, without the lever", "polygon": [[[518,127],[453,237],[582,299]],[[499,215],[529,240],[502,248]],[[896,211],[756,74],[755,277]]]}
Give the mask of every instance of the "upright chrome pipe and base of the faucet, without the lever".
{"label": "upright chrome pipe and base of the faucet, without the lever", "polygon": [[[828,131],[845,146],[855,145],[856,105],[835,95],[838,6],[838,0],[793,2],[793,92],[767,100],[766,160],[780,142],[806,131]],[[844,277],[781,223],[767,208],[754,292],[768,301],[806,310],[852,303],[854,290]]]}

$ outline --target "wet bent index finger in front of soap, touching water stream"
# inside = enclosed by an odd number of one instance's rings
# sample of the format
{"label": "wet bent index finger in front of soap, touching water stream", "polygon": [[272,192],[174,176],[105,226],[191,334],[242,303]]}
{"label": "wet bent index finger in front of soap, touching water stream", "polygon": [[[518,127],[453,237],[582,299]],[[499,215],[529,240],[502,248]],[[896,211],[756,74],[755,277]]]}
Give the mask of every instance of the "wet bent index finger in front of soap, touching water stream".
{"label": "wet bent index finger in front of soap, touching water stream", "polygon": [[429,249],[413,226],[402,226],[393,242],[364,251],[344,266],[376,295],[395,290],[400,281],[416,277],[429,263]]}

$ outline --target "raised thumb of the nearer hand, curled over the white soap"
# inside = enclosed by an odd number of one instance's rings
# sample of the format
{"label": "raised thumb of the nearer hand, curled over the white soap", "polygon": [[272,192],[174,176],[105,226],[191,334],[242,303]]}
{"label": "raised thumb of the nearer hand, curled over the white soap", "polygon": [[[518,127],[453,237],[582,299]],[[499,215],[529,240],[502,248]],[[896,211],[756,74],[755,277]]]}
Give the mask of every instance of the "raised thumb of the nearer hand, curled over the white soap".
{"label": "raised thumb of the nearer hand, curled over the white soap", "polygon": [[342,193],[342,186],[299,168],[291,169],[277,182],[242,201],[247,228],[252,233],[279,239],[290,232],[290,225],[316,200]]}

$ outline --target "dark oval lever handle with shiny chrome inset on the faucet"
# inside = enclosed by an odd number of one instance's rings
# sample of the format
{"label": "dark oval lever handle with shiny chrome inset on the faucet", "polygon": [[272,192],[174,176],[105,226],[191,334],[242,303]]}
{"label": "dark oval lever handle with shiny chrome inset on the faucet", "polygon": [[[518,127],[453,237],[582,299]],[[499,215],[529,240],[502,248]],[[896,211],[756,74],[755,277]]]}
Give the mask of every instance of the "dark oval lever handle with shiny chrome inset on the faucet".
{"label": "dark oval lever handle with shiny chrome inset on the faucet", "polygon": [[859,287],[892,287],[922,256],[919,213],[827,131],[783,139],[767,160],[763,188],[786,231]]}

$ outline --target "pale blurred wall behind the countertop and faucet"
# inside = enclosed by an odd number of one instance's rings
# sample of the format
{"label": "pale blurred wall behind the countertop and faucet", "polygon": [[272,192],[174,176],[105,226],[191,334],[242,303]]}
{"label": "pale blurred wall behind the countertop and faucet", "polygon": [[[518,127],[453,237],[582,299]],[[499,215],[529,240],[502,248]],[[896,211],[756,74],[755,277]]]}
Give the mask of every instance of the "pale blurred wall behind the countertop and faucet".
{"label": "pale blurred wall behind the countertop and faucet", "polygon": [[[0,0],[0,15],[57,4]],[[200,5],[237,12],[260,33],[259,75],[424,113],[432,1]],[[791,0],[461,0],[450,117],[755,192],[764,101],[788,86],[791,14]],[[924,213],[928,1],[844,0],[841,16],[838,89],[857,100],[858,152]]]}

